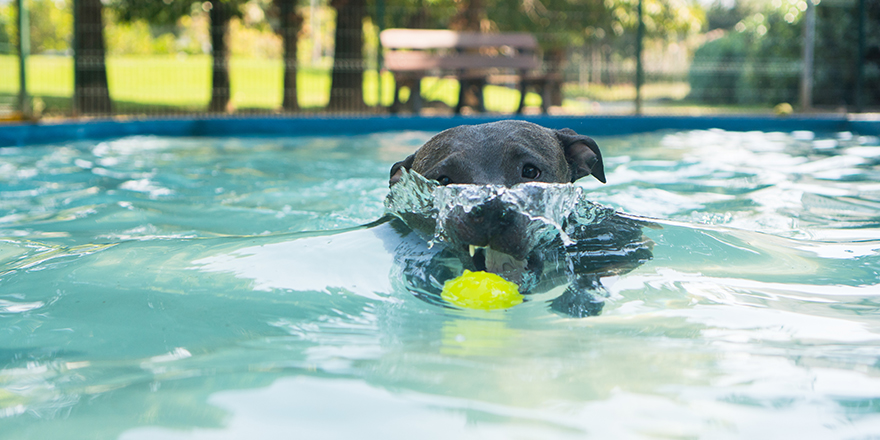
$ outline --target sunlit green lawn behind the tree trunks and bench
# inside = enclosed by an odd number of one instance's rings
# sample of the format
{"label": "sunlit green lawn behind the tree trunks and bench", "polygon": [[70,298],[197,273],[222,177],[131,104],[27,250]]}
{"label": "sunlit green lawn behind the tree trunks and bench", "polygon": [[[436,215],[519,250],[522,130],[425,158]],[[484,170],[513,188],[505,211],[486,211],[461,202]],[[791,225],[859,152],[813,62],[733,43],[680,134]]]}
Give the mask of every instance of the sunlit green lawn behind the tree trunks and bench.
{"label": "sunlit green lawn behind the tree trunks and bench", "polygon": [[[281,60],[233,58],[230,60],[231,104],[238,111],[272,111],[281,107]],[[115,56],[107,58],[110,96],[117,113],[180,113],[205,111],[211,99],[211,57],[195,56]],[[364,73],[364,102],[379,102],[379,75]],[[382,105],[393,102],[394,79],[381,76]],[[449,78],[425,78],[422,94],[425,101],[439,101],[454,107],[458,101],[458,81]],[[685,82],[651,83],[642,89],[646,112],[717,113],[766,112],[767,108],[742,106],[706,106],[688,103]],[[38,97],[44,114],[69,114],[73,95],[73,60],[71,57],[34,55],[28,58],[28,91]],[[297,75],[300,107],[321,109],[330,97],[330,71],[301,68]],[[406,97],[408,91],[402,95]],[[562,112],[569,114],[606,113],[605,103],[631,102],[632,85],[601,86],[566,84]],[[18,94],[18,58],[0,55],[0,106],[15,102]],[[519,103],[519,92],[508,87],[487,86],[486,110],[511,113]],[[595,102],[601,102],[598,106]],[[650,101],[654,101],[651,103]],[[538,106],[541,98],[530,93],[527,106]],[[717,108],[716,108],[717,107]],[[613,106],[612,106],[613,108]]]}

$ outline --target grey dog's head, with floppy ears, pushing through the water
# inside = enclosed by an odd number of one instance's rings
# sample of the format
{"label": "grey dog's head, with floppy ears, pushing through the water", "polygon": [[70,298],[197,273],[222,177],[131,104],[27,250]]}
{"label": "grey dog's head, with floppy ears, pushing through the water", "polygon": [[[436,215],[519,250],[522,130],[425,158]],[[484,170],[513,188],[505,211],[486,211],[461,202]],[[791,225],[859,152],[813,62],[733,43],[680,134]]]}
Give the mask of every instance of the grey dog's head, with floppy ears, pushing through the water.
{"label": "grey dog's head, with floppy ears, pushing through the water", "polygon": [[[504,188],[528,182],[571,183],[588,175],[605,182],[595,141],[572,130],[523,121],[446,130],[394,164],[390,185],[404,177],[404,170],[441,186],[453,185],[459,191],[452,193],[471,200],[451,206],[436,222],[408,216],[407,223],[429,235],[436,233],[435,227],[442,228],[447,244],[466,267],[512,281],[520,281],[527,270],[540,269],[542,261],[535,252],[534,216],[523,209],[522,198],[507,197]],[[470,185],[480,188],[465,188]]]}

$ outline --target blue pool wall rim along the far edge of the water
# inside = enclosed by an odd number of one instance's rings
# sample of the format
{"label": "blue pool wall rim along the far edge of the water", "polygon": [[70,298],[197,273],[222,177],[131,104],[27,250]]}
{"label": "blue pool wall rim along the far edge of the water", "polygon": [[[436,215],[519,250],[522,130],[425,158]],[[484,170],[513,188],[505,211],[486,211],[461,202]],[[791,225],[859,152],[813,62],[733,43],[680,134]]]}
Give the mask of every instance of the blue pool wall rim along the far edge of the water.
{"label": "blue pool wall rim along the far edge of the water", "polygon": [[[314,136],[355,135],[397,130],[441,131],[505,116],[423,117],[202,117],[114,119],[0,125],[0,146],[26,146],[133,135],[158,136]],[[880,115],[819,116],[535,116],[516,118],[549,128],[571,128],[591,136],[626,135],[657,130],[851,131],[880,135]]]}

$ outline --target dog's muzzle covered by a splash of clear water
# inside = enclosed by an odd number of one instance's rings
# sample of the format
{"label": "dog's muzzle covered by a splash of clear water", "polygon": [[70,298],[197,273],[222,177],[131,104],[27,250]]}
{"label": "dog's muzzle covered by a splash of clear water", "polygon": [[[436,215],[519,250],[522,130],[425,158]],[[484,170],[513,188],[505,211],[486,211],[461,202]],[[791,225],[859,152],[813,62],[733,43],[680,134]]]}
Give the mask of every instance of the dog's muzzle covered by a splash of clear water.
{"label": "dog's muzzle covered by a splash of clear water", "polygon": [[571,244],[573,228],[595,217],[591,211],[598,206],[572,184],[440,186],[408,170],[391,186],[385,205],[429,245],[443,243],[475,269],[515,282],[543,247]]}

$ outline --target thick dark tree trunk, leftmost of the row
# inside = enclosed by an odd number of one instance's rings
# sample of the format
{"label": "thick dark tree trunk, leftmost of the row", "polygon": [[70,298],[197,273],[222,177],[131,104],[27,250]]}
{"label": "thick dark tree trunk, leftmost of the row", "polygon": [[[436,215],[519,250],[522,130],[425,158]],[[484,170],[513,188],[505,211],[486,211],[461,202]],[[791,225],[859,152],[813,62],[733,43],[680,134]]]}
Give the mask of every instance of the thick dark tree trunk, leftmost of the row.
{"label": "thick dark tree trunk, leftmost of the row", "polygon": [[109,114],[101,0],[75,0],[73,114]]}

